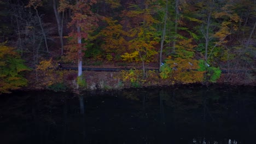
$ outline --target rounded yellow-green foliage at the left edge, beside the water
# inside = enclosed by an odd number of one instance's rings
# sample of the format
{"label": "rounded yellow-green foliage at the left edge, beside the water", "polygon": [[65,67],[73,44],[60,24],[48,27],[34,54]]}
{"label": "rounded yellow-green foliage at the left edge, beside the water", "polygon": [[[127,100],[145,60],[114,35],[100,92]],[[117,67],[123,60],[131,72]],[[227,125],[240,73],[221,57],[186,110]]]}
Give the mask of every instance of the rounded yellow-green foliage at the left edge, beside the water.
{"label": "rounded yellow-green foliage at the left edge, beside the water", "polygon": [[27,85],[23,71],[30,70],[13,47],[0,44],[0,94]]}

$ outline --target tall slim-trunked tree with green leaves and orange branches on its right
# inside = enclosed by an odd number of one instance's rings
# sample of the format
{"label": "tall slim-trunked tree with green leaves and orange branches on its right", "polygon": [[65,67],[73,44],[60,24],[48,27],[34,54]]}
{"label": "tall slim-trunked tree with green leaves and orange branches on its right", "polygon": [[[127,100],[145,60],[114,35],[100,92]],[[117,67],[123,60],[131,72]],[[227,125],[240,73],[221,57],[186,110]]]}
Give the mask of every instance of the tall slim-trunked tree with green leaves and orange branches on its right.
{"label": "tall slim-trunked tree with green leaves and orange branches on its right", "polygon": [[199,40],[199,46],[204,49],[205,65],[207,65],[213,59],[214,53],[216,56],[218,50],[227,43],[226,38],[237,31],[240,17],[232,11],[232,5],[217,3],[215,0],[203,1],[198,3],[197,7],[200,7],[202,15],[199,33],[204,39]]}

